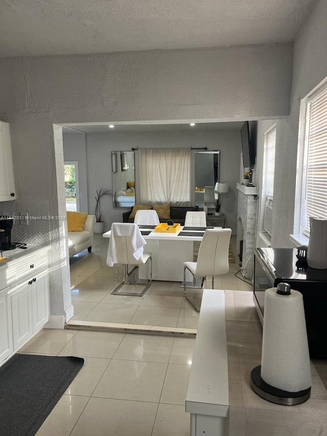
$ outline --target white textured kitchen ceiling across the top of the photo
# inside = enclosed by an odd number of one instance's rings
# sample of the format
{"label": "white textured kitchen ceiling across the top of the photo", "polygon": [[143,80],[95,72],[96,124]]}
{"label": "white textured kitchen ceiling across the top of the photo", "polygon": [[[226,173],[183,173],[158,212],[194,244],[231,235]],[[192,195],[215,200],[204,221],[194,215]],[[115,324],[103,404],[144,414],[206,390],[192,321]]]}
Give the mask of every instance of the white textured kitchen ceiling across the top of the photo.
{"label": "white textured kitchen ceiling across the top of the photo", "polygon": [[0,57],[292,41],[315,0],[2,0]]}

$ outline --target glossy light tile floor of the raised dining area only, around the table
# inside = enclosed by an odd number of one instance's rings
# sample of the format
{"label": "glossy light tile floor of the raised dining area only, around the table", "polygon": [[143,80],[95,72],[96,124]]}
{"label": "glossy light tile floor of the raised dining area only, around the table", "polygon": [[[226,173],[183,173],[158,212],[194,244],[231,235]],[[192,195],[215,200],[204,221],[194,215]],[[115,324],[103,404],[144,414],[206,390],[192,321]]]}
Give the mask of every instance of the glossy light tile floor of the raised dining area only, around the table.
{"label": "glossy light tile floor of the raised dining area only, around the table", "polygon": [[[235,259],[236,237],[232,236],[231,246]],[[122,265],[106,265],[108,239],[95,235],[92,252],[82,251],[70,259],[72,320],[155,325],[196,329],[199,315],[183,297],[180,282],[154,281],[142,297],[112,295],[112,289],[121,281]],[[252,285],[235,277],[238,263],[229,264],[229,272],[215,278],[216,289],[252,290]],[[239,273],[241,275],[241,273]],[[211,288],[211,280],[206,287]],[[194,294],[194,301],[200,305],[201,290],[188,289]]]}

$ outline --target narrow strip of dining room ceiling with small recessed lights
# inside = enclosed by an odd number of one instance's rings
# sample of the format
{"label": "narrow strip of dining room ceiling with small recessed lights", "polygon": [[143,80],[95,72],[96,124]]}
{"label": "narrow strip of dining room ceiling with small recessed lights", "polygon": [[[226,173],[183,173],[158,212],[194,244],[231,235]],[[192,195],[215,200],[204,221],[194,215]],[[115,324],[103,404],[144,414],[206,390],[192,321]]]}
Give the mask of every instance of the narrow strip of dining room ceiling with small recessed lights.
{"label": "narrow strip of dining room ceiling with small recessed lights", "polygon": [[217,130],[241,130],[244,121],[230,123],[198,123],[190,124],[116,124],[113,129],[108,124],[69,124],[63,126],[63,133],[144,133],[144,132],[207,132]]}

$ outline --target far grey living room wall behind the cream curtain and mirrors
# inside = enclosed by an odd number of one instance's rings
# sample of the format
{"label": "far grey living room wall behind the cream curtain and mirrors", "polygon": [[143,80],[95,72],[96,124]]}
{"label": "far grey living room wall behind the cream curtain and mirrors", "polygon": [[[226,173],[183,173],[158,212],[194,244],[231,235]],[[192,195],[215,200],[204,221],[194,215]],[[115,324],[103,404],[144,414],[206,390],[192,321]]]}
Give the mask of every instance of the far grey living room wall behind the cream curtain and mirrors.
{"label": "far grey living room wall behind the cream curtain and mirrors", "polygon": [[[119,126],[118,126],[119,127]],[[207,147],[208,150],[220,150],[220,180],[229,184],[228,194],[224,194],[223,209],[226,212],[226,226],[236,233],[237,191],[239,181],[239,162],[241,153],[241,136],[238,130],[217,130],[197,132],[196,130],[179,132],[148,133],[88,133],[87,176],[89,191],[89,210],[95,208],[94,195],[96,189],[112,188],[111,151],[130,151],[131,148],[187,148]],[[194,174],[194,162],[193,162]],[[137,176],[137,174],[136,174]],[[136,177],[137,183],[137,177]],[[192,180],[194,187],[194,177]],[[137,184],[136,184],[137,187]],[[137,188],[136,188],[137,189]],[[102,203],[105,229],[111,223],[122,221],[122,213],[127,209],[113,208],[112,198]]]}

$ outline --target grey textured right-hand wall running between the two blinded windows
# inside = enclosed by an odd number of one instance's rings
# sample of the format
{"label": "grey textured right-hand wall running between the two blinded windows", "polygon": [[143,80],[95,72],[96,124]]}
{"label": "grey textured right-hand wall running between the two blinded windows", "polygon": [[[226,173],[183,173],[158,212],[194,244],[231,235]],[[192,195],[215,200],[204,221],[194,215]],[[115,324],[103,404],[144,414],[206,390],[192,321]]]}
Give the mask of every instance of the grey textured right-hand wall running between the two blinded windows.
{"label": "grey textured right-hand wall running between the two blinded windows", "polygon": [[327,2],[318,0],[294,43],[291,113],[277,121],[272,246],[292,247],[300,100],[327,76]]}

